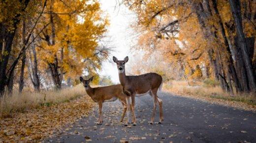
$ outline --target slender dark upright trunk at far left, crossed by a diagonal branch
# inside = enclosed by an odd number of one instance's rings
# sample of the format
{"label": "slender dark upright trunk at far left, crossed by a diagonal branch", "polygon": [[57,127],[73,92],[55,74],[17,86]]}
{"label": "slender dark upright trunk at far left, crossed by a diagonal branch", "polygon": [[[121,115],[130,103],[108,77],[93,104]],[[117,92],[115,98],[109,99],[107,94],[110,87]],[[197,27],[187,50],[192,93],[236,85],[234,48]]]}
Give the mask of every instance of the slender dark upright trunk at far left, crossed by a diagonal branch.
{"label": "slender dark upright trunk at far left, crossed by a diagonal branch", "polygon": [[[23,44],[26,44],[26,22],[23,20],[23,28],[22,28],[22,40]],[[20,81],[19,81],[19,93],[22,92],[23,87],[24,87],[24,69],[25,69],[25,64],[26,64],[26,52],[23,51],[22,54],[22,60],[21,60],[21,74],[20,74]]]}

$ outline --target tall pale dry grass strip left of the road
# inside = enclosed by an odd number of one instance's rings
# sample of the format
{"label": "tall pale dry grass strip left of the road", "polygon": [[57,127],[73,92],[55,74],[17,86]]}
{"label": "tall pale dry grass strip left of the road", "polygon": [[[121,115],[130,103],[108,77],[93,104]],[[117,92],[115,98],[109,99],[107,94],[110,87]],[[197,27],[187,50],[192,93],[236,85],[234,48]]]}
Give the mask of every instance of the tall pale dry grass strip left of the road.
{"label": "tall pale dry grass strip left of the road", "polygon": [[19,94],[13,91],[11,96],[0,98],[0,117],[9,117],[15,112],[24,112],[40,106],[51,106],[55,103],[69,102],[69,100],[85,95],[82,85],[66,88],[60,91],[41,91],[40,93],[24,91]]}

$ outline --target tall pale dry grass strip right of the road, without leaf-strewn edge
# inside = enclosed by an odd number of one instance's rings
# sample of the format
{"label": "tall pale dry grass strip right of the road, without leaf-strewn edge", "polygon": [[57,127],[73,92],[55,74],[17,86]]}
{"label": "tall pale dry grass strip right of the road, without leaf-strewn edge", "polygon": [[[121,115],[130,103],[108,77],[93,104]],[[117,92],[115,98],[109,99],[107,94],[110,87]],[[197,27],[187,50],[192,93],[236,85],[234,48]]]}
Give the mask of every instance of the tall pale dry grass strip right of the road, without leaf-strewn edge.
{"label": "tall pale dry grass strip right of the road, without leaf-strewn edge", "polygon": [[248,105],[256,106],[256,95],[253,93],[230,95],[226,93],[217,83],[211,80],[190,82],[187,81],[170,81],[164,84],[164,88],[175,94],[194,95],[196,97],[207,97],[222,99],[227,101],[243,102]]}

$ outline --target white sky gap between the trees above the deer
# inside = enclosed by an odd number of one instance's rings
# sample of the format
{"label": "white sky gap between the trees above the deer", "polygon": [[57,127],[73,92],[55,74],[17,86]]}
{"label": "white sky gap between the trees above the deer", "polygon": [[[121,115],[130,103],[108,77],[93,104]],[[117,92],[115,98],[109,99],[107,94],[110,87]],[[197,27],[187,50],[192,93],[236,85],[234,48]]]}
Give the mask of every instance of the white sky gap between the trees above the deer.
{"label": "white sky gap between the trees above the deer", "polygon": [[109,60],[103,63],[102,70],[99,71],[99,74],[110,75],[114,83],[119,83],[117,67],[112,57],[115,56],[119,60],[122,60],[126,56],[129,56],[129,61],[134,57],[130,53],[130,48],[136,43],[136,33],[130,25],[135,22],[136,16],[125,5],[117,6],[115,9],[116,0],[99,1],[101,3],[101,9],[104,13],[108,14],[110,20],[107,39],[110,39],[111,42],[108,43],[108,46],[115,50],[111,52]]}

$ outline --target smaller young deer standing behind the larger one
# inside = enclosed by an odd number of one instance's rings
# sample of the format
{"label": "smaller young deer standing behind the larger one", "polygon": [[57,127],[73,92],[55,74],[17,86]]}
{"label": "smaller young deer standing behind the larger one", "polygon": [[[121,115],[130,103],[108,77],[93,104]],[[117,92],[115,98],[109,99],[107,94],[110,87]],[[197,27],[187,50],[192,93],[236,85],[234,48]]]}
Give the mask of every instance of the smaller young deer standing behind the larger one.
{"label": "smaller young deer standing behind the larger one", "polygon": [[[129,116],[129,111],[130,111],[130,105],[128,99],[129,97],[123,93],[123,88],[120,84],[117,85],[111,85],[111,86],[104,86],[104,87],[96,87],[92,88],[90,86],[90,82],[93,81],[93,77],[89,78],[88,80],[85,80],[82,76],[80,76],[80,81],[83,83],[83,86],[85,87],[86,93],[95,101],[98,103],[98,122],[97,124],[102,124],[102,104],[103,102],[111,102],[111,101],[116,101],[119,99],[121,101],[124,110],[123,114],[121,117],[120,122],[123,122],[123,119],[125,117],[126,111],[127,112],[127,117]],[[128,104],[127,104],[128,102]],[[128,120],[126,121],[126,124],[128,124]]]}

